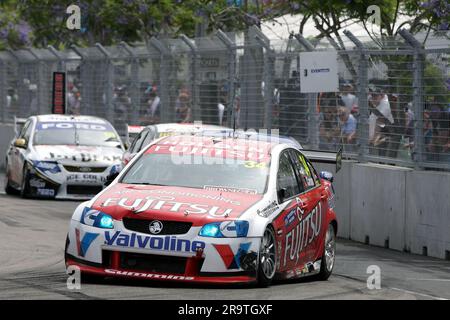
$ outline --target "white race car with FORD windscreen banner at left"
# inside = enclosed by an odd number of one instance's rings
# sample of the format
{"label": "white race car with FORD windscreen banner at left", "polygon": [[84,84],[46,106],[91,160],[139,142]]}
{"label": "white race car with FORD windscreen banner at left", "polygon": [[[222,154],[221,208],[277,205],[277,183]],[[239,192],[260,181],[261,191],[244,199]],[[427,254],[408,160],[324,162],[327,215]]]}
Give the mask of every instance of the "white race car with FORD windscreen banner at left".
{"label": "white race car with FORD windscreen banner at left", "polygon": [[32,116],[16,134],[6,155],[8,194],[89,199],[121,169],[124,146],[104,119]]}

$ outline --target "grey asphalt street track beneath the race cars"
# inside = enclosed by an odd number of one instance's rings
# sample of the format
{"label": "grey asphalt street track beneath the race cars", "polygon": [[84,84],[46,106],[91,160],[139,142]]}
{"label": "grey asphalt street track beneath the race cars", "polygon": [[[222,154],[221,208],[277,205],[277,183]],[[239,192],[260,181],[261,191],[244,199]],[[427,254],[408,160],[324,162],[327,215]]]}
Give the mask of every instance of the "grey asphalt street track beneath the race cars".
{"label": "grey asphalt street track beneath the race cars", "polygon": [[[76,206],[0,194],[0,299],[450,299],[450,262],[346,240],[324,282],[260,289],[106,280],[69,290],[63,248]],[[370,265],[380,267],[381,289],[367,288]]]}

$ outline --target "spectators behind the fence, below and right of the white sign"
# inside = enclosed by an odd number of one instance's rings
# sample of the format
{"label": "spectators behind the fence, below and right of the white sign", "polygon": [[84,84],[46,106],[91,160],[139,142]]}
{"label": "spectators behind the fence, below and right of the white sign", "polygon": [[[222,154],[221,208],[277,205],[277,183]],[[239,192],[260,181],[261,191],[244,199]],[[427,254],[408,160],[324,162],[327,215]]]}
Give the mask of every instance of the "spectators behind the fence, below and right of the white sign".
{"label": "spectators behind the fence, below and right of the white sign", "polygon": [[[362,143],[369,154],[390,158],[414,157],[416,117],[410,95],[388,93],[382,86],[369,86],[368,137]],[[360,123],[358,99],[353,86],[342,85],[338,93],[319,96],[319,149],[356,151]],[[434,97],[423,113],[425,161],[450,162],[450,105]],[[406,156],[405,156],[406,155]]]}

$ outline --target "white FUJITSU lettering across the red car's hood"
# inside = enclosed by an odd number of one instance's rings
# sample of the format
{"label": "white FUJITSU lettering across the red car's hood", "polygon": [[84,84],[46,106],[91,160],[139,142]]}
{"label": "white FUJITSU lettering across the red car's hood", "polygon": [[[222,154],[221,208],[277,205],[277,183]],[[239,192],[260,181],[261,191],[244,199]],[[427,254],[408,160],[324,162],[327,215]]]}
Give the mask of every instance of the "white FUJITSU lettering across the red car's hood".
{"label": "white FUJITSU lettering across the red car's hood", "polygon": [[231,208],[221,208],[215,205],[180,202],[175,197],[151,196],[145,198],[107,198],[102,207],[120,206],[122,208],[141,213],[147,210],[183,212],[189,214],[208,214],[213,217],[228,217],[233,212]]}

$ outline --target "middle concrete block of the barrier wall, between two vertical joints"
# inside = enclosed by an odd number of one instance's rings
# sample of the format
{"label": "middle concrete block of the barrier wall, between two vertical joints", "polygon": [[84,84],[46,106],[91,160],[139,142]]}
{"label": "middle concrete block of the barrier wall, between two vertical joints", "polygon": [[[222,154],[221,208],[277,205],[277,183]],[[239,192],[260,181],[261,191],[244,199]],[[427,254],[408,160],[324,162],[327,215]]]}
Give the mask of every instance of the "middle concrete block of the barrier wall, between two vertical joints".
{"label": "middle concrete block of the barrier wall, between two vertical joints", "polygon": [[350,236],[380,247],[405,248],[406,174],[411,169],[353,164]]}

